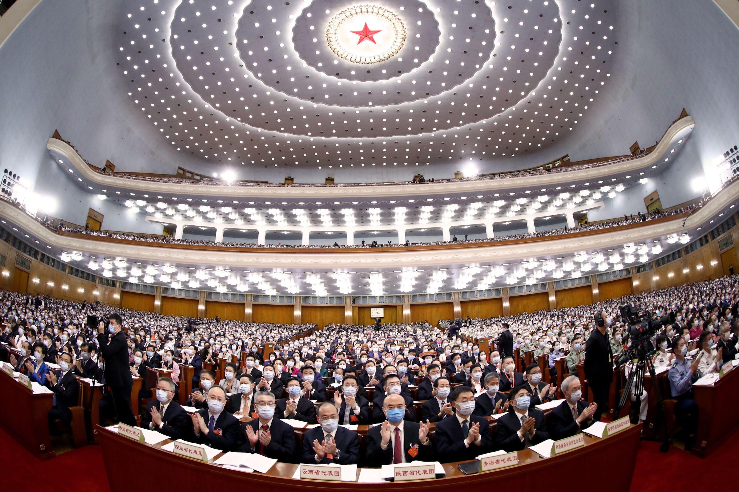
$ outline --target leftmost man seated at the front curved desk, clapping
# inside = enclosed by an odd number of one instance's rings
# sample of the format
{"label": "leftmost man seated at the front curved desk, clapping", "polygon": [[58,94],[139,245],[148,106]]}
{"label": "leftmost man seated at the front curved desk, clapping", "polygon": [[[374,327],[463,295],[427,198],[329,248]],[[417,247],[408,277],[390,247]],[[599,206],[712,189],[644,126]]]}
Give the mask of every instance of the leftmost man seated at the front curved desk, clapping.
{"label": "leftmost man seated at the front curved desk, clapping", "polygon": [[171,439],[187,436],[192,422],[180,403],[172,400],[177,395],[174,392],[174,381],[159,378],[156,395],[157,399],[150,401],[141,415],[141,427],[161,432]]}

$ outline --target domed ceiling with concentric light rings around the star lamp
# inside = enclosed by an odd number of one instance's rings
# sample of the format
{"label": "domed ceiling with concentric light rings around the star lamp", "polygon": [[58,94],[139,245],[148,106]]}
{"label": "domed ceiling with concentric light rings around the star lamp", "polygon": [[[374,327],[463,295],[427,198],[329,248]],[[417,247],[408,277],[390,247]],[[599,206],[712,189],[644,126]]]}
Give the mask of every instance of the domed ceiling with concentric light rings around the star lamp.
{"label": "domed ceiling with concentric light rings around the star lamp", "polygon": [[592,1],[378,1],[407,38],[371,65],[324,38],[355,1],[125,2],[119,61],[168,144],[210,162],[484,162],[551,144],[599,94],[613,0]]}

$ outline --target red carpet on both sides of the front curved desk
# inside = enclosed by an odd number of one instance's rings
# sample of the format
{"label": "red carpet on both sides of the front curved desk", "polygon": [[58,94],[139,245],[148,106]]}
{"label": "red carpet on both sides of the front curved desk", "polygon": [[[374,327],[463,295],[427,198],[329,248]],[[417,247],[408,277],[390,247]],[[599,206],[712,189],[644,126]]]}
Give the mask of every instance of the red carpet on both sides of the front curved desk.
{"label": "red carpet on both sides of the front curved desk", "polygon": [[[736,490],[731,473],[732,457],[739,453],[739,432],[735,432],[708,460],[702,460],[672,447],[659,452],[659,443],[643,442],[638,451],[636,470],[630,492],[701,492]],[[693,481],[695,471],[712,469],[716,460],[725,462],[721,473],[712,473],[700,485]],[[84,446],[41,461],[0,429],[0,462],[4,464],[3,489],[35,492],[109,492],[108,477],[103,467],[99,446]],[[125,459],[121,462],[125,466]],[[707,468],[706,468],[707,467]],[[721,467],[720,467],[721,468]],[[603,463],[603,470],[619,473],[619,463]],[[150,488],[155,484],[141,484]]]}

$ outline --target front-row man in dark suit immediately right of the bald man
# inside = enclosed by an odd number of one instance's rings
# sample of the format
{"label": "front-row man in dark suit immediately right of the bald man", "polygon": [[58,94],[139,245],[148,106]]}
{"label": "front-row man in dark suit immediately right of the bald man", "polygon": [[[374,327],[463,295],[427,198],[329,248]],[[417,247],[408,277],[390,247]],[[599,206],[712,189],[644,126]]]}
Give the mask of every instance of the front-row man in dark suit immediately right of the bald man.
{"label": "front-row man in dark suit immediately right of the bald man", "polygon": [[469,387],[461,386],[452,393],[454,417],[436,423],[434,434],[435,459],[440,462],[474,460],[479,454],[492,449],[488,420],[472,415],[474,394]]}

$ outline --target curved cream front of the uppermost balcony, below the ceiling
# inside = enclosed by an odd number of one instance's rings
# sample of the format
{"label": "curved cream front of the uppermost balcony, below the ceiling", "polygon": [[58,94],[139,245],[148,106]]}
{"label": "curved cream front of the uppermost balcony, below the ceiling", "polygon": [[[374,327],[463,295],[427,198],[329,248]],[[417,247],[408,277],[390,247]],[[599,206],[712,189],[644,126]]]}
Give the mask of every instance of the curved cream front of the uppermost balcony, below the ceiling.
{"label": "curved cream front of the uppermost balcony, below the ceiling", "polygon": [[[412,203],[420,198],[436,200],[449,198],[493,199],[503,193],[513,197],[537,190],[537,193],[554,193],[562,187],[582,187],[606,181],[636,181],[662,173],[676,153],[684,145],[695,126],[692,117],[684,111],[672,122],[662,138],[644,151],[634,155],[568,162],[559,159],[552,163],[525,170],[494,173],[465,179],[437,179],[434,182],[410,181],[364,184],[282,184],[256,183],[253,181],[228,182],[222,179],[185,179],[177,175],[145,175],[110,173],[105,167],[96,167],[57,133],[47,142],[47,149],[57,162],[88,193],[99,193],[112,198],[153,198],[171,200],[188,197],[203,204],[224,202],[280,204],[294,207],[311,201],[330,203],[341,207],[361,207],[362,204]],[[556,163],[556,162],[555,162]],[[551,165],[550,165],[551,164]],[[539,192],[540,190],[540,192]],[[282,202],[285,203],[282,203]],[[318,201],[318,202],[316,202]],[[326,201],[326,202],[324,202]],[[276,203],[276,202],[272,202]]]}

